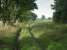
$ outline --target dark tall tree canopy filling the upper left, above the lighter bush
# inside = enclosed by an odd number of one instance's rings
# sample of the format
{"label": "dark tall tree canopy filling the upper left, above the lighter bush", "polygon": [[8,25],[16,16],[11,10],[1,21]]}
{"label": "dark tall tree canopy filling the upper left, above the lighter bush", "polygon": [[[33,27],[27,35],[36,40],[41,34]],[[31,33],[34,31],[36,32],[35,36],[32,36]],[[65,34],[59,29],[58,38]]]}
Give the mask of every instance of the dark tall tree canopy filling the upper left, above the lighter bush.
{"label": "dark tall tree canopy filling the upper left, above the lighter bush", "polygon": [[4,23],[20,20],[22,15],[37,9],[35,0],[0,0],[0,20]]}

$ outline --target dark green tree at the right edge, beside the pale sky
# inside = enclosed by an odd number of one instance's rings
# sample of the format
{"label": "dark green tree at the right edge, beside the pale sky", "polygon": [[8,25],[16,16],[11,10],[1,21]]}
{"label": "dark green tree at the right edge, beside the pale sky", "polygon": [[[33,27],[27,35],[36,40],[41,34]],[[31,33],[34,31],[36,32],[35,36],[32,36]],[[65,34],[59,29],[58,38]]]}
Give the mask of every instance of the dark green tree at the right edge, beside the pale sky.
{"label": "dark green tree at the right edge, beside the pale sky", "polygon": [[67,23],[67,0],[54,0],[52,9],[55,10],[53,13],[53,20],[55,22]]}

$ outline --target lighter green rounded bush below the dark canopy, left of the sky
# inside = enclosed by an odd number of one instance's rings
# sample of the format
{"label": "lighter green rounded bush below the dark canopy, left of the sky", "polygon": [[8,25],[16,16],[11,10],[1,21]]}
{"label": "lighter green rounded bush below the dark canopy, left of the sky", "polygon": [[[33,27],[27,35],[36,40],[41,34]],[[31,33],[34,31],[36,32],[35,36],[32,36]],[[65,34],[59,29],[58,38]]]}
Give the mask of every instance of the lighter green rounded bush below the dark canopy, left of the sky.
{"label": "lighter green rounded bush below the dark canopy, left of the sky", "polygon": [[34,20],[36,20],[36,18],[37,18],[37,15],[35,13],[28,11],[28,12],[23,13],[19,17],[19,21],[20,22],[23,22],[23,21],[26,21],[26,22],[34,21]]}

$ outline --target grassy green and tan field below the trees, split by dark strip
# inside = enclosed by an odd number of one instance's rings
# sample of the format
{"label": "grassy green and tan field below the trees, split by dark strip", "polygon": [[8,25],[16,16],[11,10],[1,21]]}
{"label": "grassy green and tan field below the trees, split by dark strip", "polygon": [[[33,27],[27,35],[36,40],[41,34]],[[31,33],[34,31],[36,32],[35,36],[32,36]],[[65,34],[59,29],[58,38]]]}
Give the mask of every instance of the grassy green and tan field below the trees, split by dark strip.
{"label": "grassy green and tan field below the trees, split by dark strip", "polygon": [[[1,50],[12,50],[14,36],[18,27],[0,25]],[[67,24],[56,24],[48,20],[36,20],[30,24],[31,30],[25,25],[20,32],[21,50],[66,50]]]}

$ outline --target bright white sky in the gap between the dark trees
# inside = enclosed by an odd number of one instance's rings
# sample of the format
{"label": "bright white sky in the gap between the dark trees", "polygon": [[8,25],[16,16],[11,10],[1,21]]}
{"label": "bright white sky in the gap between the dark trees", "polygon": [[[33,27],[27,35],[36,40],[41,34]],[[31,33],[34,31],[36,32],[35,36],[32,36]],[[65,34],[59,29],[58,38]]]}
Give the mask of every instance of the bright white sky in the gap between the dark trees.
{"label": "bright white sky in the gap between the dark trees", "polygon": [[54,0],[37,0],[38,10],[34,10],[34,13],[40,18],[42,15],[45,15],[46,18],[52,17],[53,10],[51,9],[51,4]]}

